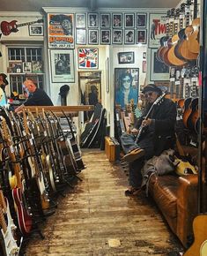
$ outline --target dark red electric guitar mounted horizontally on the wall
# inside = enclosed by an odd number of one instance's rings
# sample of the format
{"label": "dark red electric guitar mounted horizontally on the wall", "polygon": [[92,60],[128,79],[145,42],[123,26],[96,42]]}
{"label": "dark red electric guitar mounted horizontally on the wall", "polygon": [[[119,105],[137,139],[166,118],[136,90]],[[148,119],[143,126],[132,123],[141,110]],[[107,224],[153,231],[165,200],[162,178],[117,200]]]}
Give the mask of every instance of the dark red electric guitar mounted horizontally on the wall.
{"label": "dark red electric guitar mounted horizontally on the wall", "polygon": [[38,20],[35,20],[35,21],[21,23],[21,24],[17,24],[17,22],[18,22],[18,20],[12,20],[11,22],[2,21],[1,22],[2,34],[9,35],[9,34],[11,34],[11,32],[17,33],[18,32],[18,27],[32,25],[34,23],[42,23],[43,19],[38,19]]}

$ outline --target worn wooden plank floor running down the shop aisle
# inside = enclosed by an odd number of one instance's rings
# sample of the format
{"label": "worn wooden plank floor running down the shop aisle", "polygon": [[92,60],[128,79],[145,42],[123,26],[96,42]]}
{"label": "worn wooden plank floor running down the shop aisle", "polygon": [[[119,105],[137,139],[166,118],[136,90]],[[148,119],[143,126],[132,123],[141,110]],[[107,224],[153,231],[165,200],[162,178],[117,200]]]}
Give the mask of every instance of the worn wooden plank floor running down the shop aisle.
{"label": "worn wooden plank floor running down the shop aisle", "polygon": [[181,248],[152,200],[125,197],[128,177],[119,164],[99,149],[85,150],[83,159],[83,181],[59,198],[42,227],[45,239],[30,239],[26,256],[166,256]]}

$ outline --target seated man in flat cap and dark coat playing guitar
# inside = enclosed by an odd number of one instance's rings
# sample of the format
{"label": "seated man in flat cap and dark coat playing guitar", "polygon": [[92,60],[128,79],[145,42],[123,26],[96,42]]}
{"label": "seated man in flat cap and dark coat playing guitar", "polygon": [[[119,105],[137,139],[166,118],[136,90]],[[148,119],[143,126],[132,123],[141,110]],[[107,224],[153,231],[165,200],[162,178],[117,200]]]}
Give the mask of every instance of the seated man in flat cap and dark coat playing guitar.
{"label": "seated man in flat cap and dark coat playing guitar", "polygon": [[[174,102],[166,99],[161,89],[154,84],[144,87],[142,93],[146,99],[143,115],[138,119],[131,133],[124,133],[121,137],[122,149],[125,153],[123,159],[129,162],[130,188],[125,192],[127,196],[137,195],[141,191],[141,169],[144,161],[152,158],[153,155],[161,154],[165,149],[174,147],[175,141],[174,125],[177,112]],[[153,104],[155,101],[156,104]],[[140,128],[142,133],[137,140]]]}

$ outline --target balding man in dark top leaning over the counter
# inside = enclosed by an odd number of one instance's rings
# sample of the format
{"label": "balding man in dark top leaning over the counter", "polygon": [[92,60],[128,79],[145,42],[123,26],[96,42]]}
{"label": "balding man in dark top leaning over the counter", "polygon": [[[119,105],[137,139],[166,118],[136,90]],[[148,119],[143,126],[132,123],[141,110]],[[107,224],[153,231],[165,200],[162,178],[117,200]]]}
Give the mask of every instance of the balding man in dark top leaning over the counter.
{"label": "balding man in dark top leaning over the counter", "polygon": [[38,88],[32,79],[26,79],[24,89],[28,94],[28,99],[24,104],[15,109],[15,112],[20,111],[24,106],[53,106],[48,94],[41,88]]}

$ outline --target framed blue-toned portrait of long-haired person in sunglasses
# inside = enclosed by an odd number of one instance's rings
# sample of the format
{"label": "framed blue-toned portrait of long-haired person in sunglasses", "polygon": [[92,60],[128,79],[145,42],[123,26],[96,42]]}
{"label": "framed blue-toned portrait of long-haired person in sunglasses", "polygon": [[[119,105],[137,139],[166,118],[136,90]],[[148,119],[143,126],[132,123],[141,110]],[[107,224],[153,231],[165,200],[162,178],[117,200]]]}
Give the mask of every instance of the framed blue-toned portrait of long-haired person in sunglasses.
{"label": "framed blue-toned portrait of long-haired person in sunglasses", "polygon": [[138,81],[138,68],[115,68],[115,104],[125,108],[132,99],[137,102]]}

